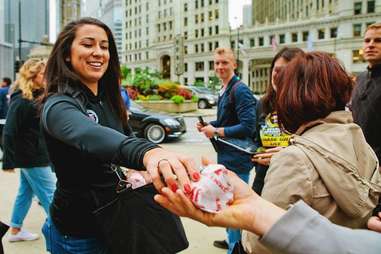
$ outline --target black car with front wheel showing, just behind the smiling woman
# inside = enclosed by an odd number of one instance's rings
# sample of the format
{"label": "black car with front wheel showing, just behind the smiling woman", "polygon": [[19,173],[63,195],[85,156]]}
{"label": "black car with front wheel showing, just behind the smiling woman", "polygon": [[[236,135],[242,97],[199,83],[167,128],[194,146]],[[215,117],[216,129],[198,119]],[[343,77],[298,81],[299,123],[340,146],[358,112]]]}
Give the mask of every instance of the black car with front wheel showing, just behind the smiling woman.
{"label": "black car with front wheel showing, just behind the smiling woman", "polygon": [[178,138],[186,132],[182,116],[149,111],[131,101],[129,124],[138,137],[159,144],[168,138]]}

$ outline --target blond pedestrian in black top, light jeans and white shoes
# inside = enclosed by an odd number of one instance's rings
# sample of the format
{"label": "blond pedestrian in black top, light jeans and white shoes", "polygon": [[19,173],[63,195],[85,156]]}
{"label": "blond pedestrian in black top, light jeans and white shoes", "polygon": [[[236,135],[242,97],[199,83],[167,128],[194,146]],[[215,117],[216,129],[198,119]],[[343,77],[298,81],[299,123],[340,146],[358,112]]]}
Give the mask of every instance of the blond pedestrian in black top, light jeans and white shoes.
{"label": "blond pedestrian in black top, light jeans and white shoes", "polygon": [[3,170],[14,172],[16,168],[20,169],[20,186],[8,236],[10,242],[38,239],[38,234],[22,229],[23,221],[34,195],[48,215],[55,190],[56,177],[50,168],[35,105],[45,89],[44,70],[45,62],[41,59],[32,58],[23,64],[4,127]]}

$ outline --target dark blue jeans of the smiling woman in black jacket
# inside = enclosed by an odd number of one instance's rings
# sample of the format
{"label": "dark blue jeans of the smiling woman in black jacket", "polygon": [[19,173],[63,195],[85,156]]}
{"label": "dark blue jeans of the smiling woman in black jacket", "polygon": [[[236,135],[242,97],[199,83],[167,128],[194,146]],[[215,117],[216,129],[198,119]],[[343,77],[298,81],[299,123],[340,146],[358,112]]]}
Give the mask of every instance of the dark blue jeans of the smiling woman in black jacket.
{"label": "dark blue jeans of the smiling woman in black jacket", "polygon": [[107,248],[96,238],[80,238],[61,234],[48,218],[42,227],[46,250],[51,254],[107,254]]}

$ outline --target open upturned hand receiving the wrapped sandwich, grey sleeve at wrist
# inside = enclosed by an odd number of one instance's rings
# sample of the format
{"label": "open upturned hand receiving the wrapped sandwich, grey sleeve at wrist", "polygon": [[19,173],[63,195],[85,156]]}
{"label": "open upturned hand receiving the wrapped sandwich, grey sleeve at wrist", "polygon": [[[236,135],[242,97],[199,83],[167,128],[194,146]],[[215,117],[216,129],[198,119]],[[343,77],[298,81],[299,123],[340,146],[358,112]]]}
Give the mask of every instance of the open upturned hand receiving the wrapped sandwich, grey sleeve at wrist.
{"label": "open upturned hand receiving the wrapped sandwich, grey sleeve at wrist", "polygon": [[169,188],[163,188],[161,194],[155,195],[155,201],[172,213],[208,226],[240,228],[263,235],[285,211],[260,198],[235,173],[228,171],[228,177],[234,189],[234,201],[218,213],[207,213],[196,208],[181,190],[174,193]]}

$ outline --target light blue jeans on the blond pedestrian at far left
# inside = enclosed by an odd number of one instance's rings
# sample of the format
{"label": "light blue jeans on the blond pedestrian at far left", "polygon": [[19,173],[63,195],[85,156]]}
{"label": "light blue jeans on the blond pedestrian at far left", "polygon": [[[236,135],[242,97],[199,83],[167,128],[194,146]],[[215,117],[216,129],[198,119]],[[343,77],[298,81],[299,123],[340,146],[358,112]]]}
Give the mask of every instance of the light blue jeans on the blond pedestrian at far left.
{"label": "light blue jeans on the blond pedestrian at far left", "polygon": [[22,227],[34,195],[48,215],[55,189],[56,175],[50,167],[20,168],[20,186],[13,206],[11,227]]}

